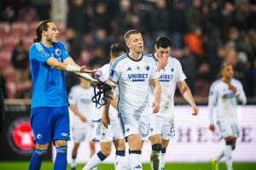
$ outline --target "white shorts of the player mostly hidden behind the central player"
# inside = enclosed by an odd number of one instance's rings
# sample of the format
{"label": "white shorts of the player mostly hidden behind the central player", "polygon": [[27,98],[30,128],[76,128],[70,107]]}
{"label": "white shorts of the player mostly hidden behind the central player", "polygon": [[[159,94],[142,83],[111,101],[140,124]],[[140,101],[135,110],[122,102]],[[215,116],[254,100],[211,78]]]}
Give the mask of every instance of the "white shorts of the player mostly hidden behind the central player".
{"label": "white shorts of the player mostly hidden behind the central player", "polygon": [[108,128],[101,123],[100,142],[112,142],[116,139],[124,139],[119,119],[111,119]]}

